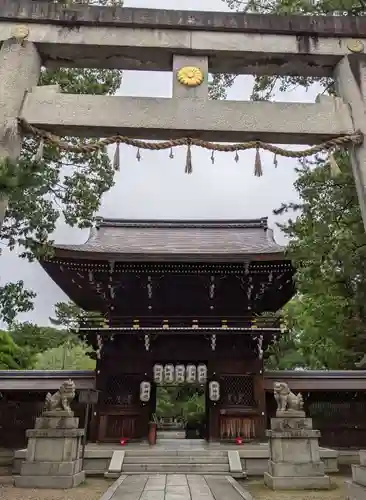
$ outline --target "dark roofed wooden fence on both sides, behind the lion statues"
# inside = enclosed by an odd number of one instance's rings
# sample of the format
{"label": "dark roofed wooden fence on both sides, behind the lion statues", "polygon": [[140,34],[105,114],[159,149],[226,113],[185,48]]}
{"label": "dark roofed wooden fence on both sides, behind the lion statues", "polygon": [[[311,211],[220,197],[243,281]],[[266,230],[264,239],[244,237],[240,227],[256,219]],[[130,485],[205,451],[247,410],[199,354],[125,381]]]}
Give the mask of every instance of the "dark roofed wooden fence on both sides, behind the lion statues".
{"label": "dark roofed wooden fence on both sides, behind the lion statues", "polygon": [[[33,380],[31,386],[30,378]],[[74,379],[77,389],[93,387],[93,372],[36,374],[0,371],[0,447],[17,449],[26,446],[25,431],[33,428],[47,391],[56,390],[60,381],[66,378]],[[265,373],[267,428],[276,411],[272,394],[275,380],[287,381],[294,392],[301,391],[305,411],[313,418],[314,429],[321,432],[322,446],[366,448],[366,371]],[[83,426],[84,407],[77,398],[73,409],[80,418],[80,426]]]}

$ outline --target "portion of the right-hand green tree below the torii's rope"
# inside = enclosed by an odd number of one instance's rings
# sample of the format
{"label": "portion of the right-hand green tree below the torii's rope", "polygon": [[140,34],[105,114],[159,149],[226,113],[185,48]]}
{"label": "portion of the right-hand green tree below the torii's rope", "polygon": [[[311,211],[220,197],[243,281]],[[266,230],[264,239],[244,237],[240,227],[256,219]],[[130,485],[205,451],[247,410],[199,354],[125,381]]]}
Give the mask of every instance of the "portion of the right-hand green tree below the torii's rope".
{"label": "portion of the right-hand green tree below the torii's rope", "polygon": [[366,349],[366,234],[347,155],[338,162],[337,177],[323,164],[299,169],[301,203],[276,211],[297,212],[281,225],[298,289],[284,317],[310,368],[354,368]]}

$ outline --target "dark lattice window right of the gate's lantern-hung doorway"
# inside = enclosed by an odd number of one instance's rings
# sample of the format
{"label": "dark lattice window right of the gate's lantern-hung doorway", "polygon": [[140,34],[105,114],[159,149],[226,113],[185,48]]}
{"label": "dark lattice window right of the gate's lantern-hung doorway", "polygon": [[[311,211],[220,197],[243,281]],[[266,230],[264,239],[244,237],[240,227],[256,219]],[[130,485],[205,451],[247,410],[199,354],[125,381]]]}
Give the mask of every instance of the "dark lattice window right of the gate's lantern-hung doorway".
{"label": "dark lattice window right of the gate's lantern-hung doorway", "polygon": [[254,379],[251,375],[223,375],[220,378],[221,401],[228,406],[256,406]]}

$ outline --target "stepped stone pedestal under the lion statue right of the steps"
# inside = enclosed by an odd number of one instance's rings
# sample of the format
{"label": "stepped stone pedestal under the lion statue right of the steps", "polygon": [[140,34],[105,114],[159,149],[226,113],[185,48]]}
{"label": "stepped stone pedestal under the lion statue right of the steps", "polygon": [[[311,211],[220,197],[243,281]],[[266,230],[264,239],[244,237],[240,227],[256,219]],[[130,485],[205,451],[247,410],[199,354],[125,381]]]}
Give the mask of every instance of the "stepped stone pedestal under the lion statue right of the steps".
{"label": "stepped stone pedestal under the lion statue right of the steps", "polygon": [[271,419],[270,460],[264,483],[273,490],[329,489],[330,479],[320,461],[320,432],[302,411],[277,412]]}

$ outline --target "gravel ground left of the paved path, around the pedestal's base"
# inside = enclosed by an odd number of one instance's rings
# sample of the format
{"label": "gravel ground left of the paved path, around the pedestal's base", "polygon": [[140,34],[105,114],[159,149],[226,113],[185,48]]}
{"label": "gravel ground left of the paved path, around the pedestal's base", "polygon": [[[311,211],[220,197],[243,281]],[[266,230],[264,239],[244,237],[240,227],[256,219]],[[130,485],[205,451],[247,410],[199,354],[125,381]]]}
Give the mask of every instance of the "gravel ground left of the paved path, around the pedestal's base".
{"label": "gravel ground left of the paved path, around the pedestal's base", "polygon": [[113,481],[87,478],[72,490],[33,490],[0,484],[0,500],[99,500]]}

